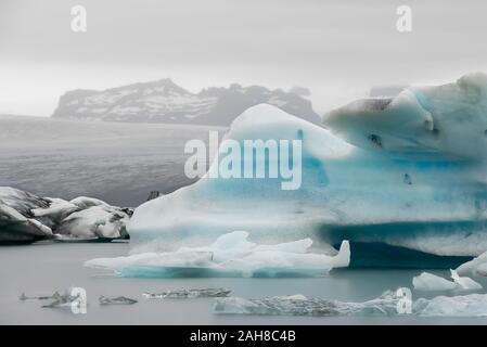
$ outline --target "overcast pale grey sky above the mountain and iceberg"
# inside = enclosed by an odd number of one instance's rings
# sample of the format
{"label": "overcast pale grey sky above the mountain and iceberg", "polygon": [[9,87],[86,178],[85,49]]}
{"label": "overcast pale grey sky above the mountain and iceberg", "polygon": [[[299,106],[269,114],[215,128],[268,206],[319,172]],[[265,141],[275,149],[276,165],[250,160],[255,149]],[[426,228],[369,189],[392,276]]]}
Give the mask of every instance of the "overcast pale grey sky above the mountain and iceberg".
{"label": "overcast pale grey sky above the mountain and iceberg", "polygon": [[[71,29],[75,4],[87,33]],[[396,30],[399,4],[412,33]],[[165,77],[303,86],[322,113],[373,86],[487,70],[486,18],[484,0],[0,0],[0,113],[49,116],[66,90]]]}

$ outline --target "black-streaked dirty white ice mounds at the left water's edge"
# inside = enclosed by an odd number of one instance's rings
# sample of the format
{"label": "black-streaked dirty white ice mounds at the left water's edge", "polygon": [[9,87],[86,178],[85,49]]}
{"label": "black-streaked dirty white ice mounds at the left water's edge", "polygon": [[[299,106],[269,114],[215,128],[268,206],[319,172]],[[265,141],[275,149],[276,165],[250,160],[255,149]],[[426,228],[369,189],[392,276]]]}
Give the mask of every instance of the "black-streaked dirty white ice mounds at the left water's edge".
{"label": "black-streaked dirty white ice mounds at the left water's edge", "polygon": [[0,187],[0,242],[125,239],[131,210],[99,200],[38,197]]}

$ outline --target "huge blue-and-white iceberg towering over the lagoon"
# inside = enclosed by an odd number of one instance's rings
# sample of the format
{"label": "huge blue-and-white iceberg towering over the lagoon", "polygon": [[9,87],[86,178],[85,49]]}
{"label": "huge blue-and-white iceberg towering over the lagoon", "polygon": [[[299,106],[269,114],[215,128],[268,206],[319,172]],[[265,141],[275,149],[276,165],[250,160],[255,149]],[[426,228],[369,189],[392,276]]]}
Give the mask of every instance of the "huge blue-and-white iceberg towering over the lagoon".
{"label": "huge blue-and-white iceberg towering over the lagoon", "polygon": [[233,230],[259,244],[309,237],[331,254],[343,240],[445,256],[487,250],[487,75],[357,101],[324,124],[266,104],[245,111],[226,139],[302,140],[300,188],[203,178],[137,208],[132,253],[207,245]]}

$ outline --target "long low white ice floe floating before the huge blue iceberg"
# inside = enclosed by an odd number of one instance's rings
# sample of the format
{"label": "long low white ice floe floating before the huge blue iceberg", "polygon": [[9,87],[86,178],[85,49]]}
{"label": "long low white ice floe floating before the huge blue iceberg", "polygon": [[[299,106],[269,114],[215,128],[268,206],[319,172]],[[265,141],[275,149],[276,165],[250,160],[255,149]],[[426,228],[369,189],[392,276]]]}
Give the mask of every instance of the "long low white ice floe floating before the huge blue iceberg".
{"label": "long low white ice floe floating before the huge blue iceberg", "polygon": [[309,239],[257,245],[247,237],[247,232],[234,231],[206,247],[100,258],[85,265],[113,270],[123,277],[315,277],[347,267],[350,259],[346,241],[336,256],[328,256],[308,253],[312,244]]}

